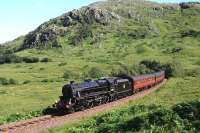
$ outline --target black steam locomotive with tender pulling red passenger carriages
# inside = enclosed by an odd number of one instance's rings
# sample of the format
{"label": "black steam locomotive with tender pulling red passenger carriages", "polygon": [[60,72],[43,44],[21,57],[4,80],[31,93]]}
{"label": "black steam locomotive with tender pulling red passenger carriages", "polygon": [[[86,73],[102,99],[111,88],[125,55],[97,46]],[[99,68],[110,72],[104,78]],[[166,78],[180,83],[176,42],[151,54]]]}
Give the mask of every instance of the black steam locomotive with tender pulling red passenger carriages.
{"label": "black steam locomotive with tender pulling red passenger carriages", "polygon": [[160,71],[140,76],[119,76],[86,80],[83,83],[64,85],[60,100],[54,104],[62,112],[74,112],[133,95],[151,88],[165,79]]}

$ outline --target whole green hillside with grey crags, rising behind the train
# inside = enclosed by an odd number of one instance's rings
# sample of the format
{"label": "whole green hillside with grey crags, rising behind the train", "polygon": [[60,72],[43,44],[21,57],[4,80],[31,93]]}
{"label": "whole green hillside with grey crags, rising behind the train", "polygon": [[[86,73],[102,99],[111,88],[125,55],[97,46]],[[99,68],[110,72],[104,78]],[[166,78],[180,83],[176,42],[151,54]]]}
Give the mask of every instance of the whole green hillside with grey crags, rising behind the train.
{"label": "whole green hillside with grey crags, rising behind the train", "polygon": [[169,64],[173,77],[135,103],[199,99],[199,22],[199,3],[108,0],[43,23],[0,46],[0,123],[38,115],[71,80],[151,72],[144,60]]}

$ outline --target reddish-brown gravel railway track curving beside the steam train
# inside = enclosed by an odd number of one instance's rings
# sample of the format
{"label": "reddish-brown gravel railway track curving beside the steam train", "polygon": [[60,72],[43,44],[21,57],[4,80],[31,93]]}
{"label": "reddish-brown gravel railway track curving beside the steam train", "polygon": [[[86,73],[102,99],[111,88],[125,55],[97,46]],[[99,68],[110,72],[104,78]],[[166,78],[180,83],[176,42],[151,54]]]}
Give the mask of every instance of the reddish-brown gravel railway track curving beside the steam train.
{"label": "reddish-brown gravel railway track curving beside the steam train", "polygon": [[75,112],[72,114],[67,114],[63,116],[52,116],[52,115],[46,115],[41,116],[37,118],[33,118],[30,120],[24,120],[20,122],[14,122],[6,125],[0,126],[0,133],[39,133],[48,130],[49,128],[54,128],[69,122],[75,122],[78,120],[81,120],[86,117],[94,116],[97,113],[109,111],[113,108],[119,107],[124,105],[125,103],[135,100],[141,97],[144,97],[145,95],[148,95],[149,93],[158,90],[160,87],[162,87],[166,83],[166,80],[164,80],[161,84],[152,87],[151,89],[144,90],[141,92],[138,92],[135,95],[125,97],[123,99],[119,99],[114,102],[110,102],[107,104],[103,104],[100,106],[96,106],[94,108],[90,108],[84,111]]}

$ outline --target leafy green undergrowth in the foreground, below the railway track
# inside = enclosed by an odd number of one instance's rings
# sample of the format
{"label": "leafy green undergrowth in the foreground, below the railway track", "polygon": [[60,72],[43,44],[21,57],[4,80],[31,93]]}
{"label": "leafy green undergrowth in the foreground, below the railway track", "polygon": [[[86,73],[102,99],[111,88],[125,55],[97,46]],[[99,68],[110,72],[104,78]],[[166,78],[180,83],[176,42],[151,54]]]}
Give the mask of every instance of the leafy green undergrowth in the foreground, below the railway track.
{"label": "leafy green undergrowth in the foreground, below the railway track", "polygon": [[48,132],[199,132],[199,105],[199,100],[178,103],[170,107],[133,104]]}

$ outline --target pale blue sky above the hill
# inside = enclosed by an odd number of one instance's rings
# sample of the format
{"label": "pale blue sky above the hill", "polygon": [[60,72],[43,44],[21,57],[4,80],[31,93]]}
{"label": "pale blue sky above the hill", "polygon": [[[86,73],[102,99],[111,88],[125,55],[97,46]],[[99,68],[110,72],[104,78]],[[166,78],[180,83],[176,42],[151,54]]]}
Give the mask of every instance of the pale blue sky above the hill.
{"label": "pale blue sky above the hill", "polygon": [[[0,44],[27,34],[51,18],[96,1],[99,0],[1,0]],[[178,3],[191,0],[152,1]]]}

